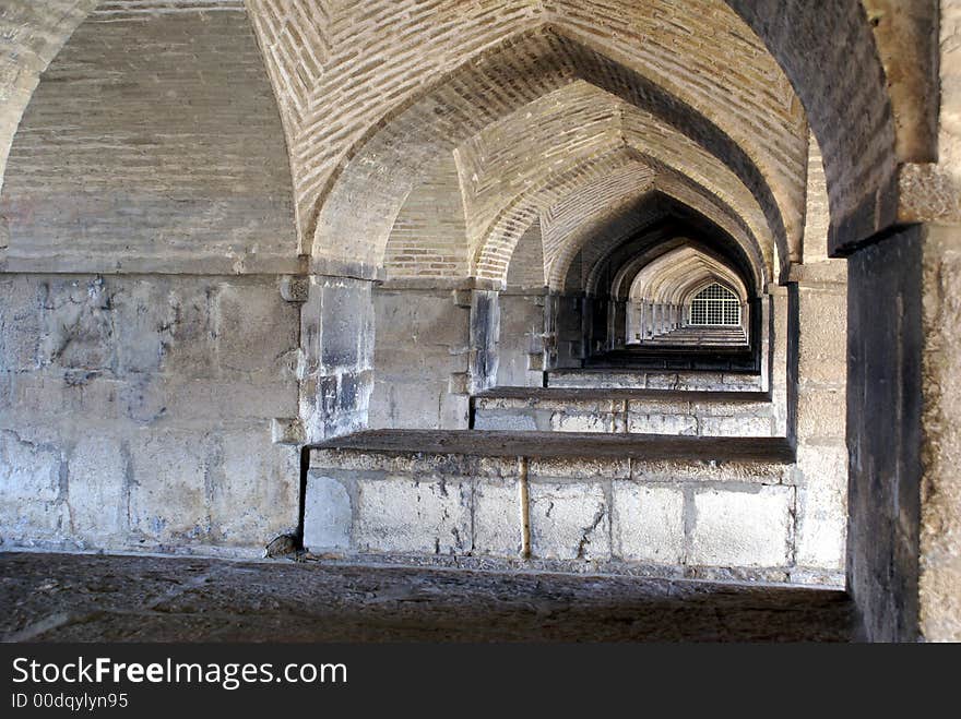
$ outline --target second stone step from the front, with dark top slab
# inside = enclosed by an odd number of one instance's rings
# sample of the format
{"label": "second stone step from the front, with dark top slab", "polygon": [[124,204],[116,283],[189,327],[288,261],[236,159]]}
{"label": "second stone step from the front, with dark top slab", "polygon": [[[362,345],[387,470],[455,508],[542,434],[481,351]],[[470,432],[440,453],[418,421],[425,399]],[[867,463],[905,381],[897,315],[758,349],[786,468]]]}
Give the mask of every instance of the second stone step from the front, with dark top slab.
{"label": "second stone step from the front, with dark top slab", "polygon": [[698,436],[783,435],[776,408],[761,392],[497,387],[472,397],[471,427]]}

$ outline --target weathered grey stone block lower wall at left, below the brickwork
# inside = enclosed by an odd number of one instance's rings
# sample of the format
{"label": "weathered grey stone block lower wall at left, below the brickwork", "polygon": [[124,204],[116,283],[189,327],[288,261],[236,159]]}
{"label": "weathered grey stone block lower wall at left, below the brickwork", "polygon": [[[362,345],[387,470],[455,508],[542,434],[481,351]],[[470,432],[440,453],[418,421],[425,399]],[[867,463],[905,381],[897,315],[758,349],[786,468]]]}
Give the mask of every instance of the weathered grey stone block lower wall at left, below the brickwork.
{"label": "weathered grey stone block lower wall at left, below the brickwork", "polygon": [[2,546],[249,551],[297,524],[270,277],[0,275]]}

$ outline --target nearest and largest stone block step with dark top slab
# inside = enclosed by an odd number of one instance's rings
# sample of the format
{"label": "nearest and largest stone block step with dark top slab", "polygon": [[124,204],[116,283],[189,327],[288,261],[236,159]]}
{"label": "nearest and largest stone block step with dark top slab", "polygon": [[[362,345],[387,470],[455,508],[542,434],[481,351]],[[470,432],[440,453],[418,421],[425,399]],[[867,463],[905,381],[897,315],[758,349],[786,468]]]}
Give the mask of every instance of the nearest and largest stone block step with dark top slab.
{"label": "nearest and largest stone block step with dark top slab", "polygon": [[310,447],[305,543],[390,563],[804,582],[793,462],[773,438],[361,432]]}

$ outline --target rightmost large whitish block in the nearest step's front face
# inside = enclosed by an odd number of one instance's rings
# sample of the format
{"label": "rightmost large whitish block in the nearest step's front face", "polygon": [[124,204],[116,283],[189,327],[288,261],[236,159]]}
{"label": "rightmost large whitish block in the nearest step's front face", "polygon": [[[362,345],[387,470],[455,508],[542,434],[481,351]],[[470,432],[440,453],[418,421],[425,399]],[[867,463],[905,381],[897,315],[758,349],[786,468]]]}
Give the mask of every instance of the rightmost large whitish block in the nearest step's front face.
{"label": "rightmost large whitish block in the nearest step's front face", "polygon": [[688,562],[714,566],[784,566],[794,490],[700,490]]}

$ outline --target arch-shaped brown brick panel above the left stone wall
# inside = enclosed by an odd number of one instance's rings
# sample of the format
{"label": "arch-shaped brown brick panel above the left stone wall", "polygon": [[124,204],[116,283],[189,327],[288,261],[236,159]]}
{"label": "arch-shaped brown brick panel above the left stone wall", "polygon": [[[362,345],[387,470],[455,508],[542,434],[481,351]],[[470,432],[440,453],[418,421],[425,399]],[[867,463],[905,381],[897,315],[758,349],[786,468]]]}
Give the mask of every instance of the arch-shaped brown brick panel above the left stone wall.
{"label": "arch-shaped brown brick panel above the left stone wall", "polygon": [[216,4],[74,32],[10,152],[0,266],[296,271],[280,115],[242,5]]}

